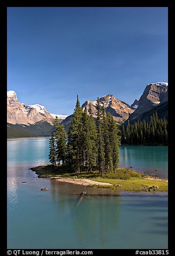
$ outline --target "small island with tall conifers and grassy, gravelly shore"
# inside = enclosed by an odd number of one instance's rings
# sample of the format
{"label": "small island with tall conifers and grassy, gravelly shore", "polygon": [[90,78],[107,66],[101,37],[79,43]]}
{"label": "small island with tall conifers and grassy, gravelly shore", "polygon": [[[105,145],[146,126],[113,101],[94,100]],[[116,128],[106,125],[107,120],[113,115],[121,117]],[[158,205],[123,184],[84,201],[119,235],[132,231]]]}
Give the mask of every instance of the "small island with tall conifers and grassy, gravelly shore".
{"label": "small island with tall conifers and grassy, gravelly shore", "polygon": [[[167,180],[135,172],[133,166],[119,168],[119,125],[110,113],[106,113],[99,97],[96,109],[94,120],[91,106],[83,110],[77,95],[68,134],[57,117],[55,119],[55,131],[49,139],[51,165],[31,169],[38,177],[56,179],[57,182],[114,190],[166,192]],[[157,118],[154,116],[155,122]]]}

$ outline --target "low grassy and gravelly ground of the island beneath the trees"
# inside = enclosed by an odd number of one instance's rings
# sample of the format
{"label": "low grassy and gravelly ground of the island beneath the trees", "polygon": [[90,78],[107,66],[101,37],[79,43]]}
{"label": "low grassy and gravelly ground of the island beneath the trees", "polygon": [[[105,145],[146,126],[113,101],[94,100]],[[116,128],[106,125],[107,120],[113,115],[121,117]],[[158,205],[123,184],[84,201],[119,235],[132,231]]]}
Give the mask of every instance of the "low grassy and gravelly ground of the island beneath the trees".
{"label": "low grassy and gravelly ground of the island beneath the trees", "polygon": [[[105,174],[101,177],[95,170],[91,174],[68,173],[61,166],[38,166],[30,168],[39,178],[55,180],[68,184],[76,184],[94,188],[108,188],[115,191],[158,191],[167,192],[168,180],[136,173],[131,170],[118,169],[116,174]],[[123,175],[120,178],[120,175]],[[129,176],[130,175],[130,176]],[[105,192],[105,191],[104,191]]]}

